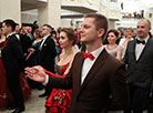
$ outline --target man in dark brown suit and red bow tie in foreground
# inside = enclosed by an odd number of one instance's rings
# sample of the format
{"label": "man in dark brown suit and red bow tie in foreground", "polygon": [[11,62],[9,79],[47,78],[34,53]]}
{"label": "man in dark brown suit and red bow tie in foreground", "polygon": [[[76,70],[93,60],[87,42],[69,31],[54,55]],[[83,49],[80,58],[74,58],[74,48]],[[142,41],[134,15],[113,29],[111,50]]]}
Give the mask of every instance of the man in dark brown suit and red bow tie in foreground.
{"label": "man in dark brown suit and red bow tie in foreground", "polygon": [[49,76],[39,66],[27,68],[26,73],[32,80],[49,82],[49,88],[72,89],[70,113],[124,110],[129,105],[124,64],[111,56],[102,45],[106,31],[104,16],[85,16],[80,34],[89,54],[78,53],[65,78]]}

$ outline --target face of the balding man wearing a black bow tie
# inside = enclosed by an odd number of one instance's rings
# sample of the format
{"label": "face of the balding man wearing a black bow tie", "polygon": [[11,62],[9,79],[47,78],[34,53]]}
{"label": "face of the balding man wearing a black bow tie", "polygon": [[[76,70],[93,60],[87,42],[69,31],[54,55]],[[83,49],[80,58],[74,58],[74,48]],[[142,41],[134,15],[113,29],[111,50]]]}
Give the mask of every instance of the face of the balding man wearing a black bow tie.
{"label": "face of the balding man wearing a black bow tie", "polygon": [[147,23],[147,21],[145,20],[142,20],[137,23],[137,35],[141,38],[141,39],[144,39],[147,37],[150,32],[150,25]]}

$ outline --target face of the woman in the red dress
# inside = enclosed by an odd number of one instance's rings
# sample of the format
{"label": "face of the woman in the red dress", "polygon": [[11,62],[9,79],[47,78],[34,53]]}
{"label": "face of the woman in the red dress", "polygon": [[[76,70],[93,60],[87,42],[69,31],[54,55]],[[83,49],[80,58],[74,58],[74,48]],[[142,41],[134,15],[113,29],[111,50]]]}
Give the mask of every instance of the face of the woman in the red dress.
{"label": "face of the woman in the red dress", "polygon": [[69,40],[69,38],[67,37],[65,32],[60,32],[60,40],[59,43],[61,45],[61,48],[65,49],[68,47],[72,47],[72,41]]}

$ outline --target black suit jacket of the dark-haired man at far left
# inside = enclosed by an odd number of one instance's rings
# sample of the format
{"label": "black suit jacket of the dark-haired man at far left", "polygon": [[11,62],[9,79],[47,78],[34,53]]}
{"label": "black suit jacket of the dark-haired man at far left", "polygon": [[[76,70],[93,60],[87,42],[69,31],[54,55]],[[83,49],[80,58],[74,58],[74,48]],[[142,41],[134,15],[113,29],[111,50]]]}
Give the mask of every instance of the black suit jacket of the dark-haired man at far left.
{"label": "black suit jacket of the dark-haired man at far left", "polygon": [[19,79],[21,71],[23,70],[24,61],[21,43],[16,34],[12,34],[8,38],[8,42],[1,53],[7,80],[16,82]]}

